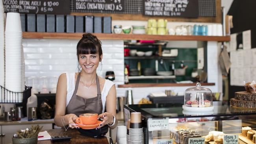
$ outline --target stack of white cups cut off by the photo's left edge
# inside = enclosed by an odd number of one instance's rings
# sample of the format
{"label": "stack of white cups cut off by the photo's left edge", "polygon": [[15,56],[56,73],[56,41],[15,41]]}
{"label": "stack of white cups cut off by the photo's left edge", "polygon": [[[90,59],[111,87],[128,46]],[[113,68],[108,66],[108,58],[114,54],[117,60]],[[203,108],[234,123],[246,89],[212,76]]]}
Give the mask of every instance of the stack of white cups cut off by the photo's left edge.
{"label": "stack of white cups cut off by the photo's left edge", "polygon": [[[0,0],[0,85],[4,87],[4,7]],[[4,91],[4,89],[3,89]],[[4,97],[4,96],[3,96]],[[2,89],[0,88],[0,102],[2,100]]]}

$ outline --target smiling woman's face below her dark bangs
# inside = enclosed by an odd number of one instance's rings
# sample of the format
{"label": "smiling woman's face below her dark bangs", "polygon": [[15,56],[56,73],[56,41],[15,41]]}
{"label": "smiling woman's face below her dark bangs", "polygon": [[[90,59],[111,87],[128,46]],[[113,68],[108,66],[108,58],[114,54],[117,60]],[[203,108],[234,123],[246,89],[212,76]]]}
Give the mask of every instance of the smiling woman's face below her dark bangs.
{"label": "smiling woman's face below her dark bangs", "polygon": [[92,74],[99,65],[102,55],[98,54],[79,54],[79,65],[82,67],[82,70],[87,74]]}

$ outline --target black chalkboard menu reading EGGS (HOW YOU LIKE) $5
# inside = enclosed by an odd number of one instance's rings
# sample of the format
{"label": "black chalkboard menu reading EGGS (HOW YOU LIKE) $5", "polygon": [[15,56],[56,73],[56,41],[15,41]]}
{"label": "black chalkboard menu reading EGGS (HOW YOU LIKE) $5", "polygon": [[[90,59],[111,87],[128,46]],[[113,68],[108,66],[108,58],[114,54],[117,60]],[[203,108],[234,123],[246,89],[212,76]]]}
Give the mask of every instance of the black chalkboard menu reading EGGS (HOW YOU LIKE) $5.
{"label": "black chalkboard menu reading EGGS (HOW YOU LIKE) $5", "polygon": [[124,0],[74,0],[75,10],[124,11]]}

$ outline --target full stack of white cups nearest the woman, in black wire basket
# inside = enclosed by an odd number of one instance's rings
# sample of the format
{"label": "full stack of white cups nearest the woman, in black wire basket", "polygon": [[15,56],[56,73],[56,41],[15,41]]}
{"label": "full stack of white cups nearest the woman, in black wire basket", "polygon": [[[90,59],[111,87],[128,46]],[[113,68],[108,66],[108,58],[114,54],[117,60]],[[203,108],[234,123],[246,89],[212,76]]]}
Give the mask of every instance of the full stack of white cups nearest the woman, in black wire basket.
{"label": "full stack of white cups nearest the woman, in black wire basket", "polygon": [[[24,90],[24,56],[19,13],[7,13],[5,30],[6,89],[13,92]],[[7,92],[5,101],[22,102],[22,93]]]}

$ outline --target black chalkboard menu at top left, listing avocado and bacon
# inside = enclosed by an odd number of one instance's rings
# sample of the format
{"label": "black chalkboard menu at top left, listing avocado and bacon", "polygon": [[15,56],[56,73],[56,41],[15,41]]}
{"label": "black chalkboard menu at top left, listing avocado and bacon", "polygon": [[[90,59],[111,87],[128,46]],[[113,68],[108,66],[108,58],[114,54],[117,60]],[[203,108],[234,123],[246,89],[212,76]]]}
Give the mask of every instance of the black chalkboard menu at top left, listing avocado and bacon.
{"label": "black chalkboard menu at top left, listing avocado and bacon", "polygon": [[4,12],[69,14],[70,0],[3,0]]}

